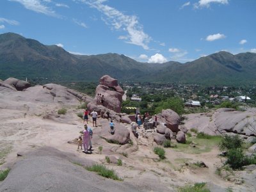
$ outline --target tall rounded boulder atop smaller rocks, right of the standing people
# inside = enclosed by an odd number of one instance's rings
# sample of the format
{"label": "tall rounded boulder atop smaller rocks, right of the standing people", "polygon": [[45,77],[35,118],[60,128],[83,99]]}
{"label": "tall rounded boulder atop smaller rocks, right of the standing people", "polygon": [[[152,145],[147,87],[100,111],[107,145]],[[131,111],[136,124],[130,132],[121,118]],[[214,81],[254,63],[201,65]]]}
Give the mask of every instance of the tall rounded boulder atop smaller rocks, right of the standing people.
{"label": "tall rounded boulder atop smaller rocks, right of the standing people", "polygon": [[179,131],[180,116],[172,109],[165,109],[162,111],[161,116],[166,120],[166,127],[171,129],[172,132]]}

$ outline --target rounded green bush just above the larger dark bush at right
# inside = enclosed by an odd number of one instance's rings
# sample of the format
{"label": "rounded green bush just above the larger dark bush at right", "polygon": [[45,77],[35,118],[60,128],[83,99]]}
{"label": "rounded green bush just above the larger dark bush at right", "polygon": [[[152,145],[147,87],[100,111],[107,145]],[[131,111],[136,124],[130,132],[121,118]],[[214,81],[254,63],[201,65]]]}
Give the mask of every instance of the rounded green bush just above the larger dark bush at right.
{"label": "rounded green bush just above the larger dark bush at right", "polygon": [[237,134],[235,136],[228,136],[225,134],[220,141],[220,149],[228,150],[231,148],[241,148],[243,145],[243,139]]}

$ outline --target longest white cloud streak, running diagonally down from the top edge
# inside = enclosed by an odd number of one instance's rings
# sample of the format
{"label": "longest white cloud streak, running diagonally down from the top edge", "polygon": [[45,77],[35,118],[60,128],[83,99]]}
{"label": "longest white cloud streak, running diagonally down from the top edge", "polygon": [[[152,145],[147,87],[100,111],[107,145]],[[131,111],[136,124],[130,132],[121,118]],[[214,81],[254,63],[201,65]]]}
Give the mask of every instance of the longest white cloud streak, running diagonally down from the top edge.
{"label": "longest white cloud streak, running diagonally down from the top edge", "polygon": [[127,32],[127,43],[139,45],[143,47],[143,49],[149,49],[148,43],[152,39],[144,33],[143,27],[138,22],[138,18],[135,15],[124,15],[124,13],[116,10],[115,8],[103,4],[105,0],[80,1],[90,5],[92,8],[96,8],[99,12],[104,13],[106,18],[103,20],[106,24],[113,26],[113,29]]}

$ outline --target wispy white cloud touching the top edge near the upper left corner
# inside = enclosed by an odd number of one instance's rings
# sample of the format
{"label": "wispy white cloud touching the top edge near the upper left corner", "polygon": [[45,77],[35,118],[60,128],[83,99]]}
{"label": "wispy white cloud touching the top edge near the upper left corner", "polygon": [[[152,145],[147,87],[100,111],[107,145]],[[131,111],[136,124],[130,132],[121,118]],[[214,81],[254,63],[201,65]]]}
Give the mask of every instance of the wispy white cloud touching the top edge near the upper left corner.
{"label": "wispy white cloud touching the top edge near the upper left corner", "polygon": [[[59,17],[54,11],[51,10],[51,8],[42,4],[42,1],[40,0],[9,0],[9,1],[15,1],[20,4],[23,4],[25,8],[27,8],[28,10],[32,10],[36,13],[43,13],[45,15]],[[44,1],[44,2],[49,3],[51,1]]]}

